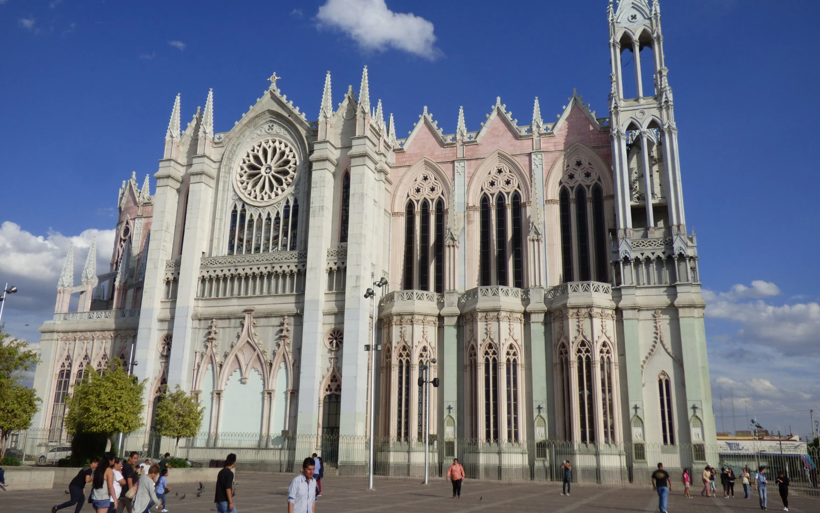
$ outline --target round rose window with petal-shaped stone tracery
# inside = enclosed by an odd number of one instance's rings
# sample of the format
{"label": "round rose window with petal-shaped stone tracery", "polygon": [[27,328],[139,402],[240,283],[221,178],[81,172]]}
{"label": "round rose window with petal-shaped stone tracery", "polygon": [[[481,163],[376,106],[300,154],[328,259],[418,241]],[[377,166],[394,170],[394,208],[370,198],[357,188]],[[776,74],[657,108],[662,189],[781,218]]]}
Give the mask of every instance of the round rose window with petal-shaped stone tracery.
{"label": "round rose window with petal-shaped stone tracery", "polygon": [[297,164],[296,151],[284,140],[260,141],[239,163],[236,190],[250,204],[270,204],[293,183]]}

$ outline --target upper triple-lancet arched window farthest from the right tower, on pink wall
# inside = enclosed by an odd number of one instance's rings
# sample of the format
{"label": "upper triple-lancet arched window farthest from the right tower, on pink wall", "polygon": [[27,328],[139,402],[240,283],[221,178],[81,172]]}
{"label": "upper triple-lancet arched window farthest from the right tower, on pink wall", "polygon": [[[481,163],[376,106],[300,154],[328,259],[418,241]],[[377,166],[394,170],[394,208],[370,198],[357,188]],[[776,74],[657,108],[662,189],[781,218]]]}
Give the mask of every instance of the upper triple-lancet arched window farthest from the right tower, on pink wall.
{"label": "upper triple-lancet arched window farthest from the right tower, on pink wall", "polygon": [[444,291],[443,188],[432,172],[421,172],[408,192],[404,208],[402,288]]}

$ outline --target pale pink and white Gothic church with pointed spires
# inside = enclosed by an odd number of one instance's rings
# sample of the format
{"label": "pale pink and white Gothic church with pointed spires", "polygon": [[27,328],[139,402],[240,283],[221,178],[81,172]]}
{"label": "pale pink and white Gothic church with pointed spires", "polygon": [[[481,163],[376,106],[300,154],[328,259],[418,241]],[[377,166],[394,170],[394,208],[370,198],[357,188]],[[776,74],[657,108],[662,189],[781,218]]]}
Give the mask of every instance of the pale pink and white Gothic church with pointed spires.
{"label": "pale pink and white Gothic church with pointed spires", "polygon": [[705,460],[704,300],[658,2],[610,0],[608,24],[608,117],[573,94],[557,121],[535,98],[520,123],[497,98],[481,126],[453,106],[445,134],[424,108],[399,139],[367,67],[341,98],[327,73],[317,121],[276,74],[223,133],[212,92],[187,126],[177,96],[153,194],[148,176],[119,192],[111,267],[92,246],[76,286],[67,256],[36,425],[66,437],[66,392],[118,357],[148,380],[146,426],[163,386],[198,398],[193,443],[365,437],[373,358],[388,447],[423,440],[429,401],[436,447]]}

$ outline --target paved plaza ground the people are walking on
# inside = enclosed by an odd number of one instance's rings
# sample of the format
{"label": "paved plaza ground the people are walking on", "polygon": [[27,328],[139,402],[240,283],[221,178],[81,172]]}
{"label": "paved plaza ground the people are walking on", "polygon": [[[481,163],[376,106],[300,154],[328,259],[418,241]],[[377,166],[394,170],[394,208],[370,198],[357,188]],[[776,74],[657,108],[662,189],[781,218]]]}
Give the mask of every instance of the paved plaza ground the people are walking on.
{"label": "paved plaza ground the people are walking on", "polygon": [[[173,470],[171,470],[173,472]],[[293,476],[285,474],[237,475],[236,502],[238,513],[287,512],[287,490]],[[170,513],[189,511],[216,511],[213,504],[214,483],[204,483],[203,496],[196,497],[197,485],[180,484],[167,499]],[[173,483],[171,483],[173,486]],[[418,479],[376,478],[375,492],[367,490],[367,479],[333,478],[322,481],[322,497],[317,502],[317,513],[376,512],[444,513],[453,511],[487,511],[503,513],[604,513],[604,511],[658,511],[658,496],[649,488],[599,488],[594,485],[573,485],[572,496],[563,497],[557,483],[502,483],[498,481],[467,480],[462,488],[462,499],[450,498],[449,482],[440,479],[424,487]],[[88,486],[86,492],[88,492]],[[777,488],[769,497],[769,511],[782,511]],[[47,513],[51,506],[67,499],[66,486],[51,490],[0,490],[0,513]],[[179,496],[175,494],[179,493]],[[185,496],[185,499],[180,497]],[[86,496],[87,497],[87,496]],[[790,497],[790,511],[795,513],[820,512],[820,499]],[[74,508],[62,510],[73,513]],[[85,513],[93,513],[85,504]],[[155,511],[155,510],[152,510]],[[669,513],[754,513],[758,499],[682,497],[681,488],[673,489],[669,497]]]}

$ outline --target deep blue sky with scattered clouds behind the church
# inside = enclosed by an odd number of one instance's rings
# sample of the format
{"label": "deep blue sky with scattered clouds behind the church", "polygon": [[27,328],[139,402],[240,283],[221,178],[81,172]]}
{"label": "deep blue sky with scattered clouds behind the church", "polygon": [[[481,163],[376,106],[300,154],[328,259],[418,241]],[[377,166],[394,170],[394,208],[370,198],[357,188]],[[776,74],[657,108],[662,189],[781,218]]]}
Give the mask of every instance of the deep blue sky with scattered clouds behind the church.
{"label": "deep blue sky with scattered clouds behind the church", "polygon": [[[820,5],[662,7],[715,397],[735,391],[737,428],[749,406],[764,426],[806,433],[808,412],[796,410],[820,409],[820,179],[809,151]],[[131,172],[140,183],[156,172],[177,93],[187,122],[213,88],[216,131],[228,131],[276,71],[315,119],[325,72],[339,102],[367,64],[371,98],[394,112],[401,137],[424,105],[452,133],[460,105],[476,130],[496,96],[522,122],[538,96],[549,121],[572,88],[605,116],[609,90],[604,0],[0,0],[0,44],[0,282],[21,286],[3,318],[31,341],[67,241],[87,247],[97,234],[107,265],[117,190]]]}

